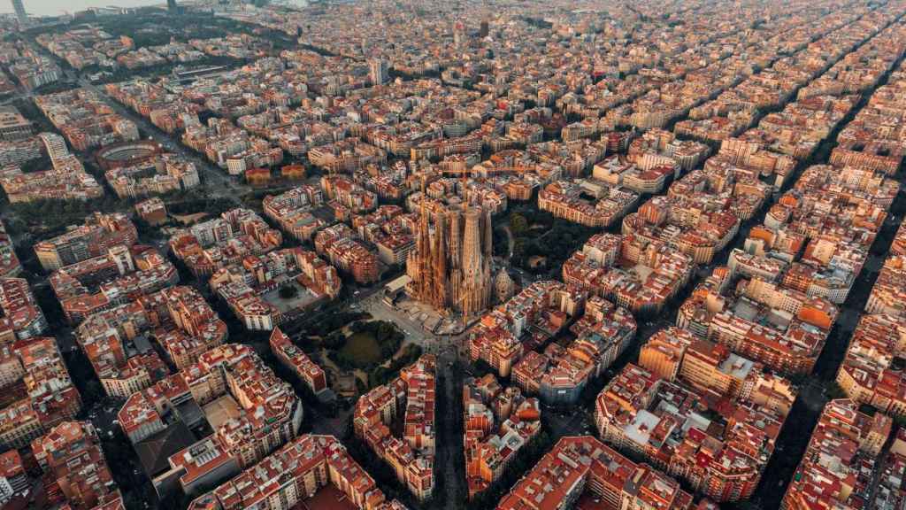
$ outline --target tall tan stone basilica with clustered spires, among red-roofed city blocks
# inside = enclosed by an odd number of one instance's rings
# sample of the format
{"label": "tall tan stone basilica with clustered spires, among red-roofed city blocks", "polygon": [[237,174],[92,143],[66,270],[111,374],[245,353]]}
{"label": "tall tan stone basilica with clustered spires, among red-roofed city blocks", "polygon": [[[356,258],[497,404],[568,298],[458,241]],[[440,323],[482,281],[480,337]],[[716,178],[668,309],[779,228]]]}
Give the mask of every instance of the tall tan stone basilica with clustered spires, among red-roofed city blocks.
{"label": "tall tan stone basilica with clustered spires, among red-roofed city blocks", "polygon": [[436,309],[464,316],[481,313],[494,288],[490,211],[467,207],[429,216],[422,211],[415,250],[406,264],[410,295]]}

